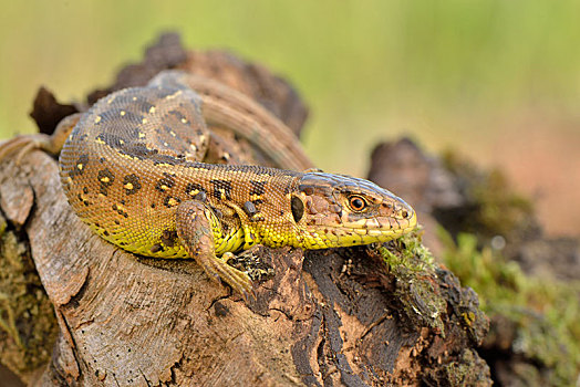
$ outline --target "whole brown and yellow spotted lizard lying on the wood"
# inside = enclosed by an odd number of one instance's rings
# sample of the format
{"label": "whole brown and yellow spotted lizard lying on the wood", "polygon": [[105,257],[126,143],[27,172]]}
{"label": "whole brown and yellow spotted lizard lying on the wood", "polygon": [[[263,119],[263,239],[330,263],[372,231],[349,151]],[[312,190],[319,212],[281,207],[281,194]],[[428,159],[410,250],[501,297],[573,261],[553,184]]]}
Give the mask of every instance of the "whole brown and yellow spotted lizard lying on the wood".
{"label": "whole brown and yellow spotted lizard lying on the wood", "polygon": [[[286,169],[203,163],[206,121],[231,128]],[[247,297],[251,280],[227,264],[238,251],[385,242],[417,223],[410,205],[369,180],[296,170],[311,161],[292,144],[288,127],[240,93],[165,71],[64,118],[51,137],[4,144],[0,159],[17,148],[19,158],[32,148],[60,151],[69,203],[95,233],[132,253],[193,258]]]}

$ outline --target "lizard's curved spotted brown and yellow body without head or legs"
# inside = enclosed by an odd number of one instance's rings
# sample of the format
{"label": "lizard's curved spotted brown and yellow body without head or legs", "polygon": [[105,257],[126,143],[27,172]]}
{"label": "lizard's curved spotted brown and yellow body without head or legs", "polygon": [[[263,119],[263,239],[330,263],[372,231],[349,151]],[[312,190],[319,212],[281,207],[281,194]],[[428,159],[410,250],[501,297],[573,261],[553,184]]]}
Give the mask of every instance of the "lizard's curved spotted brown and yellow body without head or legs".
{"label": "lizard's curved spotted brown and yellow body without head or legs", "polygon": [[221,224],[214,233],[216,253],[263,242],[281,245],[277,239],[292,244],[287,196],[302,174],[199,163],[208,142],[193,91],[123,90],[99,101],[74,127],[60,156],[61,181],[77,216],[131,252],[187,258],[175,211],[199,196]]}

